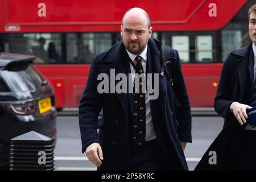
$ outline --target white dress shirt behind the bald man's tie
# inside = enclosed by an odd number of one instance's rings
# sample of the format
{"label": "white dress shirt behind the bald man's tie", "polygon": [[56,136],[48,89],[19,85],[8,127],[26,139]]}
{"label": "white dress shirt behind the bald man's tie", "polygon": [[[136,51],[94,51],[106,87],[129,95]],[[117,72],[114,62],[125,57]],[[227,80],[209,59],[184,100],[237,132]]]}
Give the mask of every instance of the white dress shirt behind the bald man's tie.
{"label": "white dress shirt behind the bald man's tie", "polygon": [[[126,49],[127,51],[127,49]],[[137,57],[137,55],[134,55],[133,53],[130,53],[129,51],[127,51],[130,59],[133,61],[134,65],[137,64],[137,61],[135,61],[135,57]],[[144,51],[141,53],[141,55],[139,55],[142,57],[142,67],[143,67],[143,72],[146,73],[146,66],[147,66],[147,46],[144,49]],[[134,82],[134,77],[135,77],[135,69],[133,67],[133,65],[130,63],[130,69],[131,69],[131,77],[133,78],[133,82]],[[152,122],[152,116],[151,116],[151,110],[150,110],[150,99],[148,97],[148,90],[146,91],[145,94],[145,102],[146,102],[146,137],[145,140],[150,141],[152,139],[156,138],[155,135],[155,130],[153,127],[153,122]]]}

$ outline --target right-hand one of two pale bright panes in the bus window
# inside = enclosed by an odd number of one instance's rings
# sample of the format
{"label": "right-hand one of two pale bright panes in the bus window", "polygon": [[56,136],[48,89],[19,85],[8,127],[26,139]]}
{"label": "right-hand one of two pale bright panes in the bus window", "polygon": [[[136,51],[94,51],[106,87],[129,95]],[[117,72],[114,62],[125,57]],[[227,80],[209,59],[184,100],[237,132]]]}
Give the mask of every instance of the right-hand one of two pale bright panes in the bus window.
{"label": "right-hand one of two pale bright panes in the bus window", "polygon": [[196,61],[211,62],[213,61],[212,36],[196,36]]}

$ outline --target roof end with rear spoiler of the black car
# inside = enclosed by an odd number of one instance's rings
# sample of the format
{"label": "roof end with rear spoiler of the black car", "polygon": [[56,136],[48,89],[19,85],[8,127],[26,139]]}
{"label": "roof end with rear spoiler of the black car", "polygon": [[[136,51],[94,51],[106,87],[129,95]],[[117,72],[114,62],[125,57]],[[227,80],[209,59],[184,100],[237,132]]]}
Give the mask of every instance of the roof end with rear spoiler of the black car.
{"label": "roof end with rear spoiler of the black car", "polygon": [[9,64],[31,62],[35,59],[32,55],[21,55],[18,53],[0,53],[0,69],[4,69]]}

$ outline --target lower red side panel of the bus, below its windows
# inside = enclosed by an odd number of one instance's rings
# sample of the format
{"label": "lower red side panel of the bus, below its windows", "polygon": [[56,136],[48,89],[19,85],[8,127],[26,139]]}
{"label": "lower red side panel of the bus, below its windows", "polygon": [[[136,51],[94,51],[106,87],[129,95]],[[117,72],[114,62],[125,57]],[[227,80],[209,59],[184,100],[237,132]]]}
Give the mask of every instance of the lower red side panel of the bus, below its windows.
{"label": "lower red side panel of the bus, below its windows", "polygon": [[[90,65],[35,65],[52,83],[56,107],[78,107]],[[191,107],[213,107],[222,64],[183,64]]]}

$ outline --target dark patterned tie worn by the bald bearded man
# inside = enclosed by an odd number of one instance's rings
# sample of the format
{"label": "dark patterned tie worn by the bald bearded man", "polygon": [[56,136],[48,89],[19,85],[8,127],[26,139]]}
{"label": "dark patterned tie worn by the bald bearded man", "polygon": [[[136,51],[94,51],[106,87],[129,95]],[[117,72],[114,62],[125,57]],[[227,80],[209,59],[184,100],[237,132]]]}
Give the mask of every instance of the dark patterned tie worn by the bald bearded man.
{"label": "dark patterned tie worn by the bald bearded man", "polygon": [[[137,64],[135,65],[135,73],[144,74],[142,67],[142,57],[135,57]],[[132,126],[132,146],[135,150],[142,147],[145,143],[146,134],[146,103],[145,93],[142,93],[142,79],[139,79],[139,93],[135,93],[135,81],[134,79],[134,115],[133,115],[133,126]],[[138,85],[138,84],[137,84]]]}

